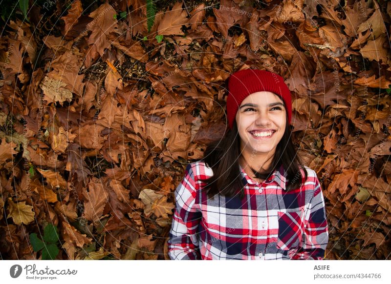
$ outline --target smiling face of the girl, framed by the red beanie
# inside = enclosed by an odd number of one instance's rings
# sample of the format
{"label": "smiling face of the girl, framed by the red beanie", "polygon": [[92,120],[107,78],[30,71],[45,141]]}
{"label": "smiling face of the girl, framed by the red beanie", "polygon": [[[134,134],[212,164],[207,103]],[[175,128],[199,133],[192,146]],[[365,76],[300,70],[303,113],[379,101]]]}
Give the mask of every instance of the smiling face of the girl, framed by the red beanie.
{"label": "smiling face of the girl, framed by the red beanie", "polygon": [[241,102],[236,123],[240,136],[240,153],[246,159],[272,157],[286,127],[284,103],[278,95],[271,92],[253,93]]}

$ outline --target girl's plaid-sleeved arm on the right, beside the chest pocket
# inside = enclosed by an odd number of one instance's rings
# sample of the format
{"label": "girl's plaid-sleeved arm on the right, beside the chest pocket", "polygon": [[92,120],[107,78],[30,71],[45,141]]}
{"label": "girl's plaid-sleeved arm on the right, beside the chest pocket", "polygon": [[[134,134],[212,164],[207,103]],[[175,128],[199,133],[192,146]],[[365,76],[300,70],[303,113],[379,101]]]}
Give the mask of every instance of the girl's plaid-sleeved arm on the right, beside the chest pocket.
{"label": "girl's plaid-sleeved arm on the right, beside the chest pocket", "polygon": [[309,211],[309,220],[304,228],[299,249],[292,259],[323,260],[328,243],[328,228],[325,200],[318,178],[315,179],[314,195]]}

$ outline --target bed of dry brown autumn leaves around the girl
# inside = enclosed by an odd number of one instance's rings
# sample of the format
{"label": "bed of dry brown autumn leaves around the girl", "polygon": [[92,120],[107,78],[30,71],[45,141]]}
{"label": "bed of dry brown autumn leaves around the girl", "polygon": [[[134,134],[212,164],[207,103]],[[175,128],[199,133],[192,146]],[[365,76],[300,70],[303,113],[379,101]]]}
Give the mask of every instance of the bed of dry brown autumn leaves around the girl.
{"label": "bed of dry brown autumn leaves around the girl", "polygon": [[150,32],[144,0],[61,2],[0,38],[1,259],[40,258],[48,223],[57,259],[168,259],[174,188],[241,68],[289,84],[327,258],[390,259],[391,2],[158,1]]}

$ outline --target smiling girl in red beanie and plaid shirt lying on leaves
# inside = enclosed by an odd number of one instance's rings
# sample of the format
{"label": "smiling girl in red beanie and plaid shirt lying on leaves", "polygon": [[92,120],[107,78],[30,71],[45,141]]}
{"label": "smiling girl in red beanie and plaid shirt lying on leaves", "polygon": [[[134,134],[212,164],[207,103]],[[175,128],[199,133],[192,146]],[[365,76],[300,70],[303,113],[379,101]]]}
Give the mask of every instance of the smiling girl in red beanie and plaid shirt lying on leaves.
{"label": "smiling girl in red beanie and plaid shirt lying on leaves", "polygon": [[174,260],[325,257],[325,202],[314,170],[291,141],[291,95],[282,77],[246,69],[228,81],[225,137],[189,163],[175,190]]}

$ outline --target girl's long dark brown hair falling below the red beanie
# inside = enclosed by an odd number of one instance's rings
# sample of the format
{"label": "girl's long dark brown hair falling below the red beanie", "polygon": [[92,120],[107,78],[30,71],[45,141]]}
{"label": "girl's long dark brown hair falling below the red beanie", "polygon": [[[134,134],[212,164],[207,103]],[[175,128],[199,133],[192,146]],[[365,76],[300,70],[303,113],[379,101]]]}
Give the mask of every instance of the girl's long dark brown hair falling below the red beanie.
{"label": "girl's long dark brown hair falling below the red beanie", "polygon": [[[307,179],[307,172],[302,166],[302,161],[297,155],[296,147],[291,140],[292,126],[286,118],[286,127],[281,141],[277,144],[275,155],[268,169],[263,172],[254,172],[258,179],[266,180],[271,174],[284,165],[284,176],[286,179],[285,189],[291,191],[300,188]],[[244,197],[243,177],[239,166],[240,136],[238,125],[234,121],[233,128],[228,130],[226,135],[218,141],[207,145],[204,158],[205,162],[213,170],[213,176],[207,179],[199,179],[206,183],[202,190],[206,190],[209,198],[217,194],[233,197],[239,193],[240,199]],[[300,168],[304,169],[304,180]]]}

